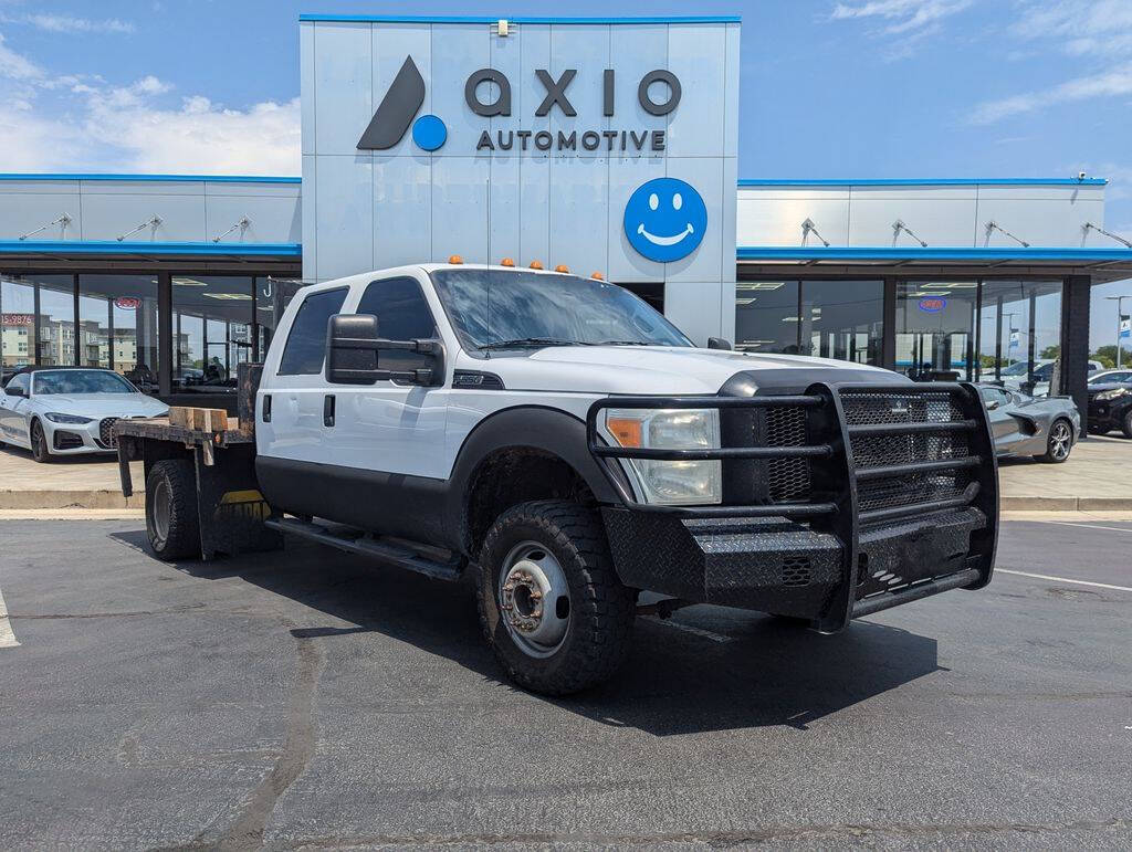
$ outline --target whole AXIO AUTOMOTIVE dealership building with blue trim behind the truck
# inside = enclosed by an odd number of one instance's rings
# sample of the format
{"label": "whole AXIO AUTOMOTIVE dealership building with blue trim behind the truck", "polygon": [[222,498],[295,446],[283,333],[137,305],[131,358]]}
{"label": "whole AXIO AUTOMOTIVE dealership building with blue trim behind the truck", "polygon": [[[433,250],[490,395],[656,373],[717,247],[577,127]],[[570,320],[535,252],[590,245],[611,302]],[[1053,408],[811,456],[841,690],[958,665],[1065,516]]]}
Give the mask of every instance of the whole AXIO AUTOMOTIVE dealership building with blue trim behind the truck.
{"label": "whole AXIO AUTOMOTIVE dealership building with blue trim behind the truck", "polygon": [[301,178],[0,174],[0,369],[223,402],[302,283],[458,255],[599,273],[700,344],[984,381],[1060,354],[1083,410],[1090,287],[1132,277],[1105,181],[740,175],[739,27],[301,16]]}

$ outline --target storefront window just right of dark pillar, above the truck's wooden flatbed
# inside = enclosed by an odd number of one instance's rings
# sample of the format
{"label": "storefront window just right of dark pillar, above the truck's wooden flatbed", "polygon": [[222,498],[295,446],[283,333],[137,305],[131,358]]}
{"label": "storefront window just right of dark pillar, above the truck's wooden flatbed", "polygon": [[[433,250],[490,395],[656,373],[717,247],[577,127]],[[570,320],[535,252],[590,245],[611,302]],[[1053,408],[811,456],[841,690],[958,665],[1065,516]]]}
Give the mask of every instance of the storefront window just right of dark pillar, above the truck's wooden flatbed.
{"label": "storefront window just right of dark pillar, above the truck's wooden flatbed", "polygon": [[173,275],[173,390],[235,393],[252,356],[252,278]]}

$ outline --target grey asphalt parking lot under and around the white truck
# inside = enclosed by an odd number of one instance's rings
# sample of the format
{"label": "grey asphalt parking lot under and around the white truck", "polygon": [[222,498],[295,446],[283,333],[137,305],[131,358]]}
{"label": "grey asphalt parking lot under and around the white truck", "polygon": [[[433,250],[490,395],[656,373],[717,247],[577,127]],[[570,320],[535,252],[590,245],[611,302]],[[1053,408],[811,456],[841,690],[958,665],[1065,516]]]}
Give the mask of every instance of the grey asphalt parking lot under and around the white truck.
{"label": "grey asphalt parking lot under and around the white truck", "polygon": [[1132,523],[1006,523],[987,589],[835,637],[642,619],[569,700],[468,585],[143,537],[0,523],[5,849],[1132,845]]}

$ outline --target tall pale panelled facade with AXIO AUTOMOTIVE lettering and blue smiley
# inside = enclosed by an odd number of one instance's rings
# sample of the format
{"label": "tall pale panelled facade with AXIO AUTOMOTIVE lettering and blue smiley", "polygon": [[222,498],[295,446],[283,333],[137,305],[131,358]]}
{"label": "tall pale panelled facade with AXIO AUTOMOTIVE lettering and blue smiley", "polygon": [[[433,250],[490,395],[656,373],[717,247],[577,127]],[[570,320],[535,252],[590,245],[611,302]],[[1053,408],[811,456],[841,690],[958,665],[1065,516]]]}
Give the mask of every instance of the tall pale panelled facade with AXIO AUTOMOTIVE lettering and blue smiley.
{"label": "tall pale panelled facade with AXIO AUTOMOTIVE lettering and blue smiley", "polygon": [[738,19],[497,24],[301,18],[303,278],[539,260],[732,336]]}

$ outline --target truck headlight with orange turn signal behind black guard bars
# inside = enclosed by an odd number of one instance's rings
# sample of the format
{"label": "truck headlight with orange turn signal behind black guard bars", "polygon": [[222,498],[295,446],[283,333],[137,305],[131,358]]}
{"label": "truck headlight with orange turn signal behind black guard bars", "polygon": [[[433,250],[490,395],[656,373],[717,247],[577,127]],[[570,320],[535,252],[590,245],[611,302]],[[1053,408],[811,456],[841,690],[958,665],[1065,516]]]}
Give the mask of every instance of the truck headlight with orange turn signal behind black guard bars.
{"label": "truck headlight with orange turn signal behind black guard bars", "polygon": [[[607,408],[604,437],[621,447],[718,449],[715,408]],[[719,461],[621,459],[645,502],[668,506],[718,504],[723,499]]]}

